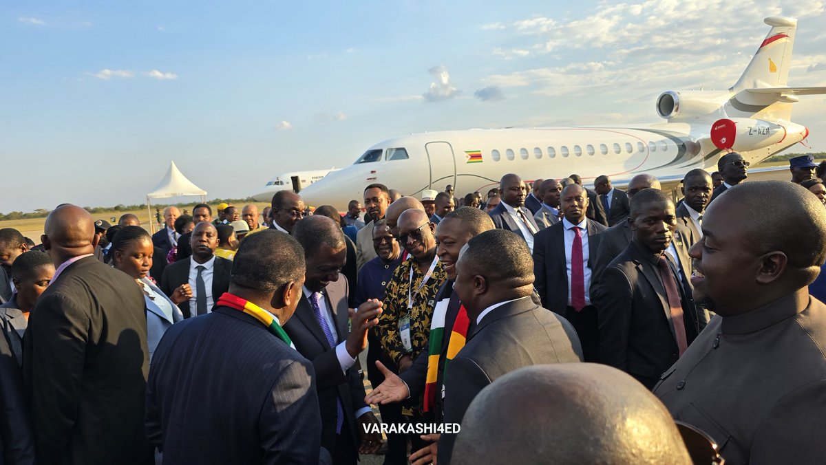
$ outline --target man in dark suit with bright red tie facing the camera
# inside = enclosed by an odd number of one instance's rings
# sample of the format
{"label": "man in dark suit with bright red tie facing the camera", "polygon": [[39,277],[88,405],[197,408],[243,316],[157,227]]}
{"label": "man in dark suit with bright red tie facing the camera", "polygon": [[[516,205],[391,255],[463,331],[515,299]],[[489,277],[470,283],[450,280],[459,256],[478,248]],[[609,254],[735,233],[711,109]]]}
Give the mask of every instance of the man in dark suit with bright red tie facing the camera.
{"label": "man in dark suit with bright red tie facing the camera", "polygon": [[587,193],[571,184],[563,189],[563,221],[539,231],[534,244],[534,286],[542,305],[565,317],[577,330],[586,362],[597,361],[599,336],[591,298],[591,258],[605,226],[588,221]]}

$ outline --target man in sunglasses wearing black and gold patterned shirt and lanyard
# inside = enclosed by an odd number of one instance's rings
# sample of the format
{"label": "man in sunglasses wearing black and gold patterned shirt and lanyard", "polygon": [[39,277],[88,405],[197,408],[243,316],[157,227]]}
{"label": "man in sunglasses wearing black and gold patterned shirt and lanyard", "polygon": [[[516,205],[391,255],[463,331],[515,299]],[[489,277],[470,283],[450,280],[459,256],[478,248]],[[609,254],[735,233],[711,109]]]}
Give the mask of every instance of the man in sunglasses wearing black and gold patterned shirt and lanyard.
{"label": "man in sunglasses wearing black and gold patterned shirt and lanyard", "polygon": [[[436,256],[435,228],[425,211],[403,211],[396,226],[399,244],[410,255],[387,284],[378,333],[385,351],[402,373],[411,368],[420,353],[427,352],[436,294],[448,277]],[[411,423],[420,422],[421,409],[421,396],[402,403],[402,415]],[[417,435],[411,435],[411,442],[412,450],[426,445]]]}

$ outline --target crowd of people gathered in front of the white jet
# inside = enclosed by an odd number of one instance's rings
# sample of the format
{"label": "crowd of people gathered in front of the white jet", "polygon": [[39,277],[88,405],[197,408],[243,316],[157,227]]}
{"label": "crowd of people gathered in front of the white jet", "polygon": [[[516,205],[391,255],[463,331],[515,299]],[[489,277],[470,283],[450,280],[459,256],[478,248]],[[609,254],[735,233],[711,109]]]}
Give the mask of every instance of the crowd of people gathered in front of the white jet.
{"label": "crowd of people gathered in front of the white jet", "polygon": [[718,168],[2,229],[0,464],[824,463],[826,169]]}

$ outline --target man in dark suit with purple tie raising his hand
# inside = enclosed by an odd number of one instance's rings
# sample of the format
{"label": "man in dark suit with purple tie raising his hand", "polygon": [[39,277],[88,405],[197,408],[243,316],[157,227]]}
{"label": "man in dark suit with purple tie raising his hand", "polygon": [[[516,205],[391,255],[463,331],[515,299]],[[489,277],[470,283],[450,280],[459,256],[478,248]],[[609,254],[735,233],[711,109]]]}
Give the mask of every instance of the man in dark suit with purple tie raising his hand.
{"label": "man in dark suit with purple tie raising his hand", "polygon": [[381,303],[370,299],[359,306],[348,333],[347,278],[340,273],[347,257],[344,232],[330,218],[308,216],[292,236],[304,247],[306,280],[295,317],[284,330],[316,369],[321,445],[333,463],[353,464],[359,450],[373,453],[382,444],[380,434],[364,430],[377,420],[364,403],[364,385],[354,368],[358,353],[367,347],[369,328],[378,322]]}

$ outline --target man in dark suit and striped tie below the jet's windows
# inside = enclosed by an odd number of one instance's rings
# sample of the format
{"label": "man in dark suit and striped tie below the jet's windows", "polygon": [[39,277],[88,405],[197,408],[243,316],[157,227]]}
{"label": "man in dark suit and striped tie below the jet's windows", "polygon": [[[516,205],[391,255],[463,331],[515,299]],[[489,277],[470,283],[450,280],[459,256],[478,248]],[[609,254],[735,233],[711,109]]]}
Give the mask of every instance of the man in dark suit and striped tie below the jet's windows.
{"label": "man in dark suit and striped tie below the jet's windows", "polygon": [[534,235],[539,232],[539,226],[534,216],[525,208],[525,194],[528,189],[522,178],[515,174],[506,174],[499,181],[502,192],[502,201],[489,215],[496,229],[513,231],[528,244],[528,249],[534,249]]}

